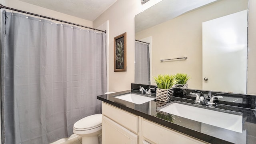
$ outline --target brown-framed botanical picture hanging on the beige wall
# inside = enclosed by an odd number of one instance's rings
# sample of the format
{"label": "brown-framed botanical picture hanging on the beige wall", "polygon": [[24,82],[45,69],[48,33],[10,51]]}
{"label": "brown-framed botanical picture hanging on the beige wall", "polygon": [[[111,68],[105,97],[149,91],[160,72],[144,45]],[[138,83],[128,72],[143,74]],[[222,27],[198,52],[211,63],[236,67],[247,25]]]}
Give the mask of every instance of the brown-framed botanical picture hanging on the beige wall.
{"label": "brown-framed botanical picture hanging on the beige wall", "polygon": [[126,32],[114,37],[114,72],[126,72]]}

